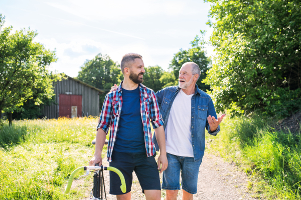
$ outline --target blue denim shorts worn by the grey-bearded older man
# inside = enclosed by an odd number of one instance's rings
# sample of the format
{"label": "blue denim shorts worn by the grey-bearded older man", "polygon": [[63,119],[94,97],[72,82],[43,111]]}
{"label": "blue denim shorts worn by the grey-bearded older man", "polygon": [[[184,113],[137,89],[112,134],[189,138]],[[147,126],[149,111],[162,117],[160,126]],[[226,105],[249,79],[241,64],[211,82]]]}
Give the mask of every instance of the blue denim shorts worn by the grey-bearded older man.
{"label": "blue denim shorts worn by the grey-bearded older man", "polygon": [[194,161],[194,157],[178,156],[167,153],[168,167],[163,171],[162,189],[176,190],[180,188],[180,171],[182,189],[195,194],[198,188],[198,176],[202,159]]}

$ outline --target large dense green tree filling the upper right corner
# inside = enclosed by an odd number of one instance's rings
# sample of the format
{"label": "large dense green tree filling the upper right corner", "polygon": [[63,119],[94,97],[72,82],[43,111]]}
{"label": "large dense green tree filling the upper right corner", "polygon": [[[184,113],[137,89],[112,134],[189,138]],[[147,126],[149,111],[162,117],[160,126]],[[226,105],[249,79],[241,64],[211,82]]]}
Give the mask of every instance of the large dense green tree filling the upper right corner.
{"label": "large dense green tree filling the upper right corner", "polygon": [[300,108],[301,1],[206,1],[217,56],[205,82],[217,110],[287,115]]}

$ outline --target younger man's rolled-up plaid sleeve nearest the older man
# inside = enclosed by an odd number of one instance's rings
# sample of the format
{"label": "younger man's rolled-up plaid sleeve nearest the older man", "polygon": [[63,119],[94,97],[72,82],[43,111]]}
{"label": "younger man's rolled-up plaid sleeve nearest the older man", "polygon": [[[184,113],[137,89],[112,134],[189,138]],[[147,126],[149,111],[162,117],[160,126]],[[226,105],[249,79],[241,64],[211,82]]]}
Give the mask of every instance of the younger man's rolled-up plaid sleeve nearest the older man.
{"label": "younger man's rolled-up plaid sleeve nearest the older man", "polygon": [[152,101],[150,102],[150,119],[152,119],[151,121],[153,124],[153,128],[155,129],[164,125],[164,121],[160,113],[156,94],[153,90],[151,92],[152,92],[151,95]]}

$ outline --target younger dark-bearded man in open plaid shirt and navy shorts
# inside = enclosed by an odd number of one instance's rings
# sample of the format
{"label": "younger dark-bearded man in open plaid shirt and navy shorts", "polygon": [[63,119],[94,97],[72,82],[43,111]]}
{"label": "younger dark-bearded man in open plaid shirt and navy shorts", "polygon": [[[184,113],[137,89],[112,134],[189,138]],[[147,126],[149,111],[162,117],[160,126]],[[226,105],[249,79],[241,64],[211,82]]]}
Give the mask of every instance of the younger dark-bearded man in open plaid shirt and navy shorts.
{"label": "younger dark-bearded man in open plaid shirt and navy shorts", "polygon": [[[101,151],[109,127],[107,157],[110,166],[118,168],[124,175],[126,193],[120,189],[118,175],[110,171],[110,194],[117,200],[129,200],[132,172],[135,171],[146,200],[161,199],[159,171],[167,168],[164,122],[162,120],[155,92],[141,84],[144,63],[137,53],[127,53],[120,64],[123,81],[115,91],[109,92],[104,100],[96,133],[94,157],[89,165],[102,163]],[[156,149],[152,140],[150,122],[156,131],[161,148],[158,165]]]}

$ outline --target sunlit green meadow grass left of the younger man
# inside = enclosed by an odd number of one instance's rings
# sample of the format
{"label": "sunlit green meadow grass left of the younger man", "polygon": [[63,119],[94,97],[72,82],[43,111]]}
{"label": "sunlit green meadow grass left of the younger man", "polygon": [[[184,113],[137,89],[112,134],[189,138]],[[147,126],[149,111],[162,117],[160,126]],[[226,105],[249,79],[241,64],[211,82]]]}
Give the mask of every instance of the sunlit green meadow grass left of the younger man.
{"label": "sunlit green meadow grass left of the younger man", "polygon": [[94,154],[96,125],[92,117],[6,124],[0,130],[0,199],[81,198],[90,188],[64,194],[64,186],[71,172]]}

